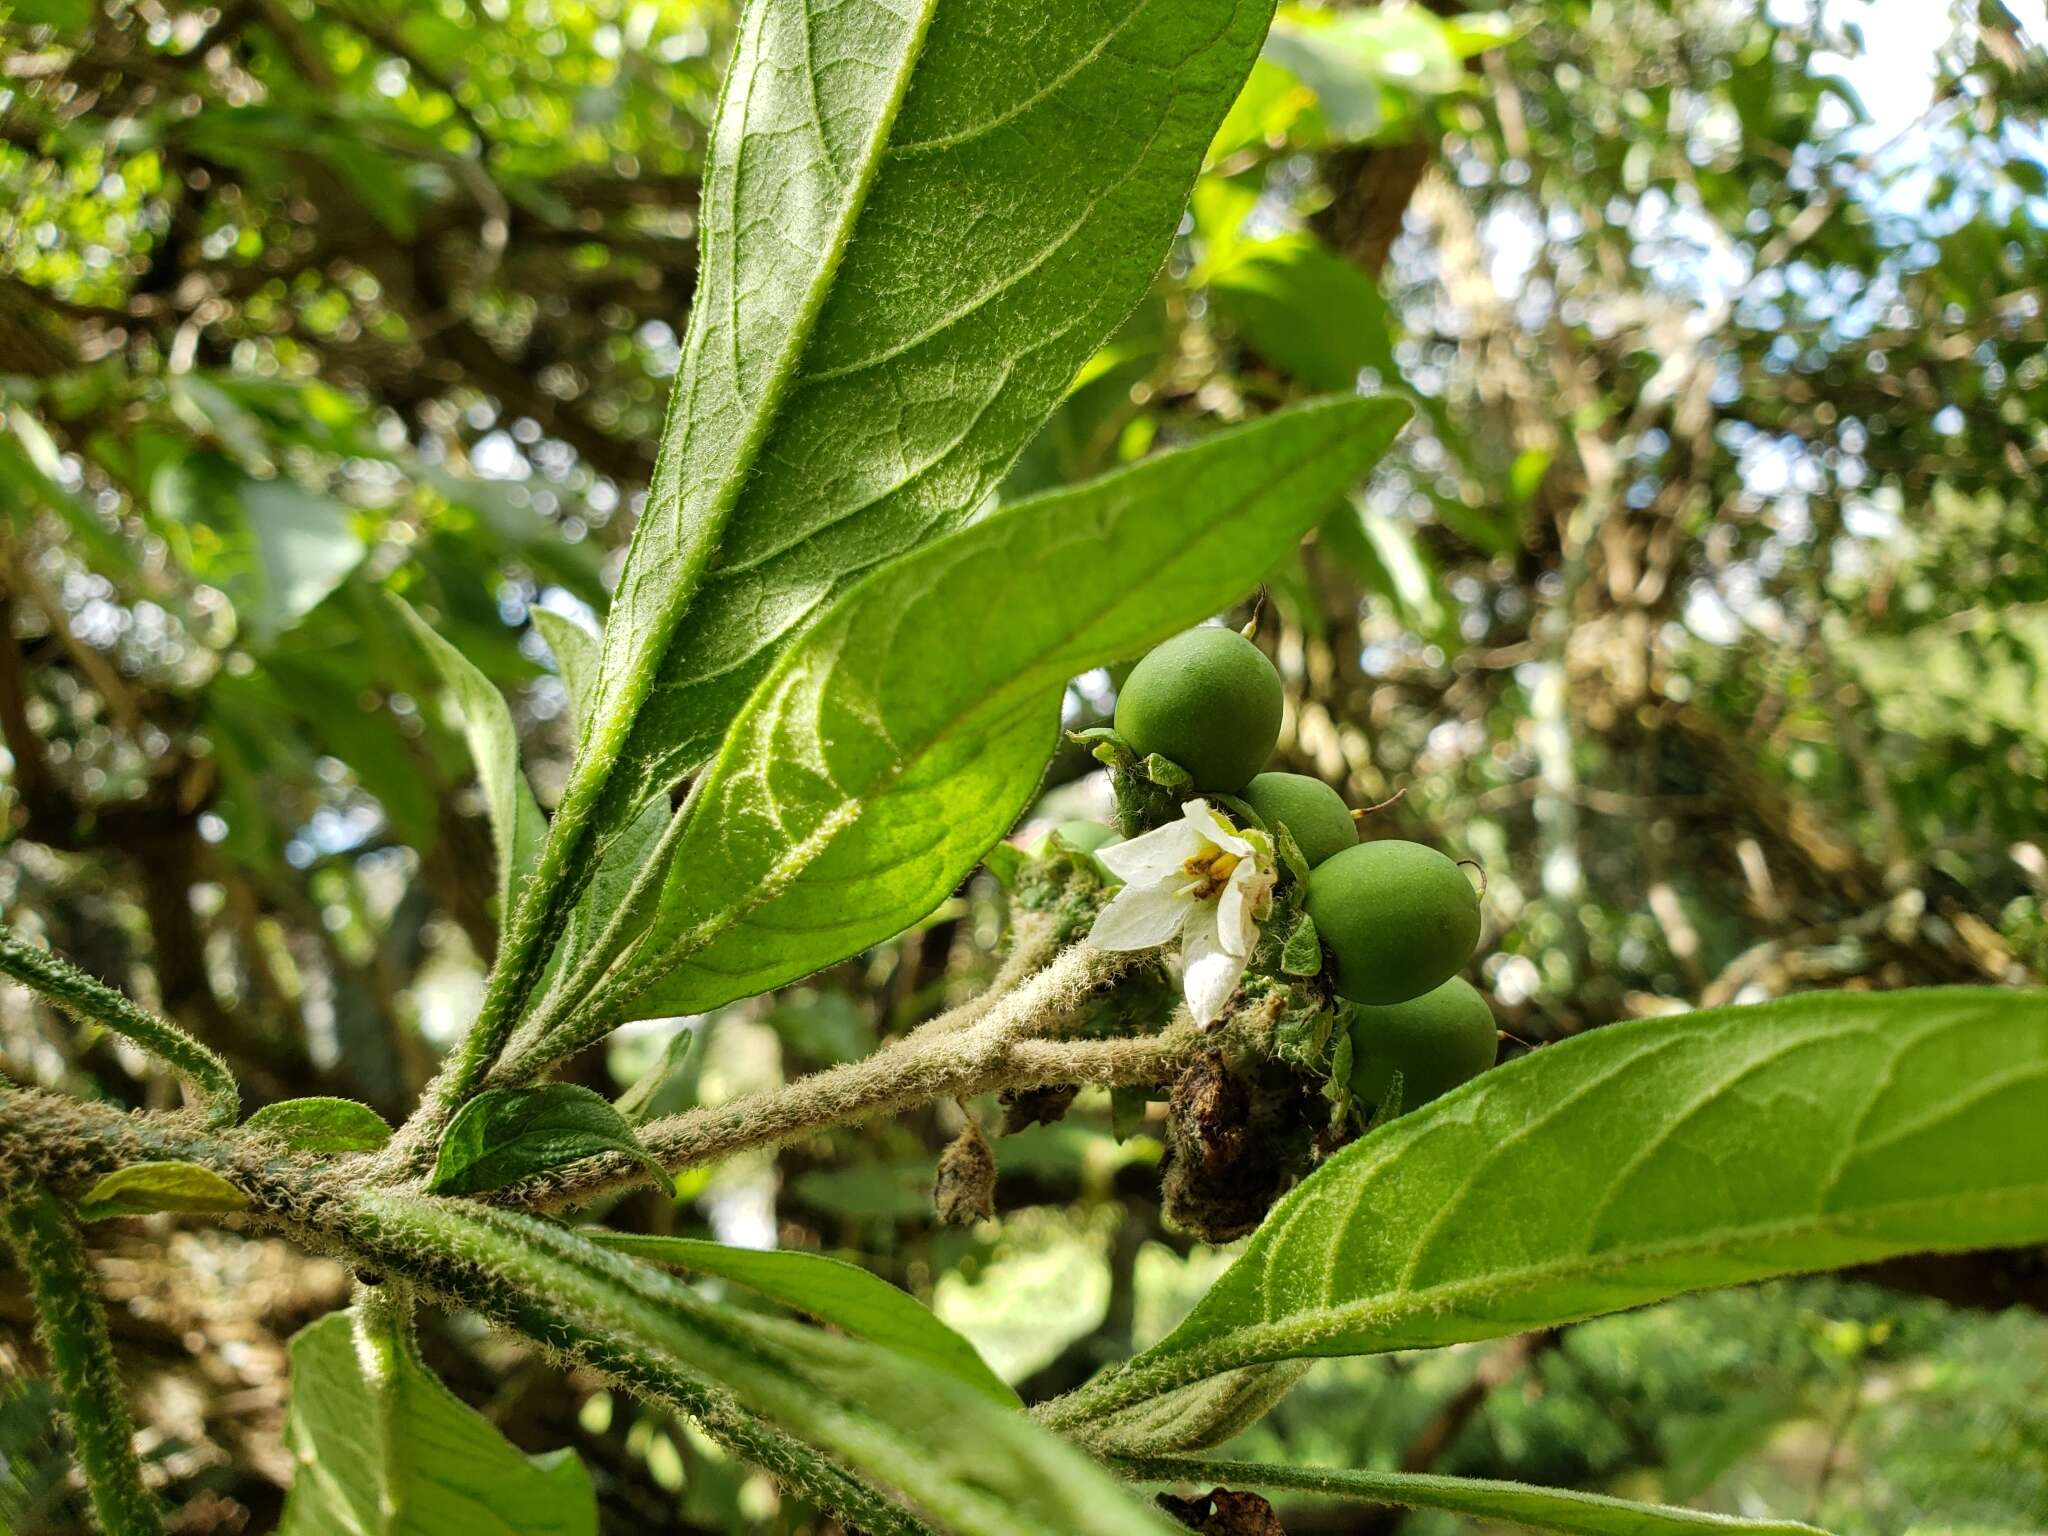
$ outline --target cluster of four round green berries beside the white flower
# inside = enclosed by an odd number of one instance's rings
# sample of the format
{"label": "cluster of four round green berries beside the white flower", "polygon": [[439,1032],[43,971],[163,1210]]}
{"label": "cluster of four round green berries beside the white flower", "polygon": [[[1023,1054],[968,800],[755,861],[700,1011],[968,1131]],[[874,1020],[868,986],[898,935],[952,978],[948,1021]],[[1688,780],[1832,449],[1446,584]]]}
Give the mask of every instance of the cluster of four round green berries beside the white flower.
{"label": "cluster of four round green berries beside the white flower", "polygon": [[1139,756],[1186,768],[1198,793],[1231,795],[1268,827],[1288,829],[1309,862],[1305,909],[1331,985],[1354,1004],[1352,1092],[1382,1104],[1399,1073],[1401,1106],[1427,1104],[1491,1067],[1497,1049],[1493,1012],[1458,975],[1479,944],[1479,893],[1434,848],[1360,842],[1350,807],[1323,780],[1260,772],[1280,739],[1280,674],[1266,653],[1204,627],[1130,670],[1116,733]]}

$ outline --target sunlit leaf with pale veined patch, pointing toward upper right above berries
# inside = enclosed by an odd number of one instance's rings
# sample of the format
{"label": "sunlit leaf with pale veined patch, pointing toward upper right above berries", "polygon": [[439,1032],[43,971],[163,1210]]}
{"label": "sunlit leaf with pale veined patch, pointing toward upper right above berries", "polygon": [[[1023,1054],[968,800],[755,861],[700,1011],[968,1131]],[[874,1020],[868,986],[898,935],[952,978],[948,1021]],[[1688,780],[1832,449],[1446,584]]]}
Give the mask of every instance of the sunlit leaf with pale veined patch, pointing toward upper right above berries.
{"label": "sunlit leaf with pale veined patch, pointing toward upper right above berries", "polygon": [[1329,399],[1016,502],[850,592],[733,725],[635,973],[705,1012],[936,907],[1030,801],[1065,680],[1239,598],[1393,442]]}

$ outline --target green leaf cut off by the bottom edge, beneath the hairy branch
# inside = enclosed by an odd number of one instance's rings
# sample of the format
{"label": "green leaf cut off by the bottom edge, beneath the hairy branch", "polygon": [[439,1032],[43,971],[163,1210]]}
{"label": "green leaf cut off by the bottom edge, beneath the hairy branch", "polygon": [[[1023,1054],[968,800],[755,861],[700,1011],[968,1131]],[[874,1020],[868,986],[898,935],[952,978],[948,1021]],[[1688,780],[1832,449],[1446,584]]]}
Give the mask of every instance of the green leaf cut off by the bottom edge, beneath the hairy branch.
{"label": "green leaf cut off by the bottom edge, beneath the hairy branch", "polygon": [[526,1456],[360,1309],[291,1341],[297,1473],[279,1536],[596,1536],[598,1501],[573,1450]]}

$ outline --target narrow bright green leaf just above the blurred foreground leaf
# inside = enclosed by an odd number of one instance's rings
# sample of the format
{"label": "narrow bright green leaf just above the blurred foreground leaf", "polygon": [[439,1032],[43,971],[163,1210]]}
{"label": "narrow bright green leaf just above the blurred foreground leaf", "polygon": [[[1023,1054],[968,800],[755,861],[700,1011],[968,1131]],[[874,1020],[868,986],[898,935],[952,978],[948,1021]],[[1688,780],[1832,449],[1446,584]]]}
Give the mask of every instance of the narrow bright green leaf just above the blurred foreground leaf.
{"label": "narrow bright green leaf just above the blurred foreground leaf", "polygon": [[846,1329],[905,1360],[942,1370],[997,1403],[1016,1407],[1018,1395],[987,1368],[975,1346],[940,1323],[915,1296],[907,1296],[858,1264],[823,1253],[727,1247],[694,1237],[641,1237],[586,1227],[584,1237],[616,1253],[666,1264],[672,1270],[715,1274],[748,1290],[809,1313],[819,1323]]}

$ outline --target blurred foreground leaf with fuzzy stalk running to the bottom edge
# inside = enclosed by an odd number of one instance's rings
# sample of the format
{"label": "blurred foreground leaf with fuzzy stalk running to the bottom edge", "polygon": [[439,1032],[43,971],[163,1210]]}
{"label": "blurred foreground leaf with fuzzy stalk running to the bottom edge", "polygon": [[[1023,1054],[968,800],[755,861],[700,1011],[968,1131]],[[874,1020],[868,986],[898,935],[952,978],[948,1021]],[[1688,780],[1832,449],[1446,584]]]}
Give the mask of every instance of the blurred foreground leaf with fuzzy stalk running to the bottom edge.
{"label": "blurred foreground leaf with fuzzy stalk running to the bottom edge", "polygon": [[[369,1194],[354,1200],[350,1231],[391,1274],[430,1284],[438,1266],[455,1264],[483,1276],[475,1300],[489,1321],[682,1407],[877,1536],[1176,1530],[1083,1452],[946,1372],[862,1339],[705,1300],[682,1280],[557,1223]],[[872,1493],[852,1507],[862,1489]]]}

